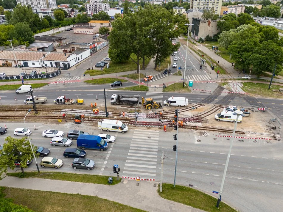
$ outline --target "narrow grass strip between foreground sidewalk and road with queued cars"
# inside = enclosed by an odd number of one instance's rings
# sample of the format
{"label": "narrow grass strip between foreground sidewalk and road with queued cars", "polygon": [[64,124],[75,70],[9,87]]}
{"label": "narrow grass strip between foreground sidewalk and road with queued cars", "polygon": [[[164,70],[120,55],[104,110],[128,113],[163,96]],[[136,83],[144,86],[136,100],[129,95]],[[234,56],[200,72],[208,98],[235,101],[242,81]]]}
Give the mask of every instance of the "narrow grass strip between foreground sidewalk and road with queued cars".
{"label": "narrow grass strip between foreground sidewalk and road with queued cars", "polygon": [[[19,173],[6,173],[8,176],[18,177]],[[88,175],[88,174],[75,174],[67,172],[25,172],[26,178],[44,178],[52,180],[66,180],[72,182],[81,182],[81,183],[96,183],[104,185],[115,185],[120,182],[116,177],[113,177],[113,183],[108,183],[108,176],[102,175]]]}

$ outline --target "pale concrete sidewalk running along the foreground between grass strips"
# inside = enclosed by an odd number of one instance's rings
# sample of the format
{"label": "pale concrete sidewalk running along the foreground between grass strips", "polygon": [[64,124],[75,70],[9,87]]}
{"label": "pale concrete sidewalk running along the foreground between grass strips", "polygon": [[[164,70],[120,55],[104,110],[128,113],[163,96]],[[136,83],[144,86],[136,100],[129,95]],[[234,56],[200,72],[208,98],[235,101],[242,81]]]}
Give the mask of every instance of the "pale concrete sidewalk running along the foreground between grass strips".
{"label": "pale concrete sidewalk running along the foreground between grass strips", "polygon": [[145,211],[204,212],[200,209],[161,198],[157,193],[158,187],[153,187],[153,183],[140,181],[140,185],[136,186],[136,181],[125,179],[124,184],[119,183],[108,186],[40,178],[5,177],[0,180],[0,186],[97,196]]}

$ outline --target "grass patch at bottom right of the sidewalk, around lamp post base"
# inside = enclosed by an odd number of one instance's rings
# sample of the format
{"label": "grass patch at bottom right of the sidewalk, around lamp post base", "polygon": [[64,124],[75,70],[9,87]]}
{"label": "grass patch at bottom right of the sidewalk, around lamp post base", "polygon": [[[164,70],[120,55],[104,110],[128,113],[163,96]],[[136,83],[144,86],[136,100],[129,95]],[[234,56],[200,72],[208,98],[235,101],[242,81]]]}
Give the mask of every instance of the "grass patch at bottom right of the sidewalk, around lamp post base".
{"label": "grass patch at bottom right of the sidewalk, around lamp post base", "polygon": [[189,205],[203,211],[237,212],[230,206],[226,205],[224,202],[220,203],[219,209],[216,208],[216,198],[186,186],[176,185],[174,188],[172,184],[163,183],[162,192],[160,192],[160,190],[158,189],[158,193],[164,199],[172,200],[174,202],[180,202],[184,205]]}

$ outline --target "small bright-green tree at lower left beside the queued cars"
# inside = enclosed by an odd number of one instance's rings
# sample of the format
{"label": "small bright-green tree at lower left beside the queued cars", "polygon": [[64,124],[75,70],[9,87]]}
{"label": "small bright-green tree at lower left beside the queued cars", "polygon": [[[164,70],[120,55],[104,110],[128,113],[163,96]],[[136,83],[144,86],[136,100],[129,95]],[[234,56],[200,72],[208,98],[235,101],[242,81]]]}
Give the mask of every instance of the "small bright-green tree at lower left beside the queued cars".
{"label": "small bright-green tree at lower left beside the queued cars", "polygon": [[[5,141],[7,143],[3,144],[3,150],[1,151],[0,157],[0,173],[7,172],[8,167],[14,170],[16,167],[15,161],[17,161],[20,163],[21,171],[24,174],[24,168],[27,168],[27,161],[33,158],[27,137],[16,139],[8,136],[5,138]],[[32,146],[34,148],[34,145]],[[37,157],[39,156],[36,152],[35,155]]]}

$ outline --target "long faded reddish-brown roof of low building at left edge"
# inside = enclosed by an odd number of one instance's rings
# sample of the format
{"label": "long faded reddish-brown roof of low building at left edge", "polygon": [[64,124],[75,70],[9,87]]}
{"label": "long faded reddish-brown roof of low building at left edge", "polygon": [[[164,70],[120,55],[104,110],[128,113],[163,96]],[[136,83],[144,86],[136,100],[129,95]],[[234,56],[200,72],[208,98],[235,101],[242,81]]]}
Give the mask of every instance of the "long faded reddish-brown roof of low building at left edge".
{"label": "long faded reddish-brown roof of low building at left edge", "polygon": [[[48,54],[49,52],[44,51],[15,51],[17,60],[27,60],[27,61],[38,61],[43,57],[43,54]],[[0,52],[0,59],[3,60],[14,60],[13,51],[2,51]]]}

